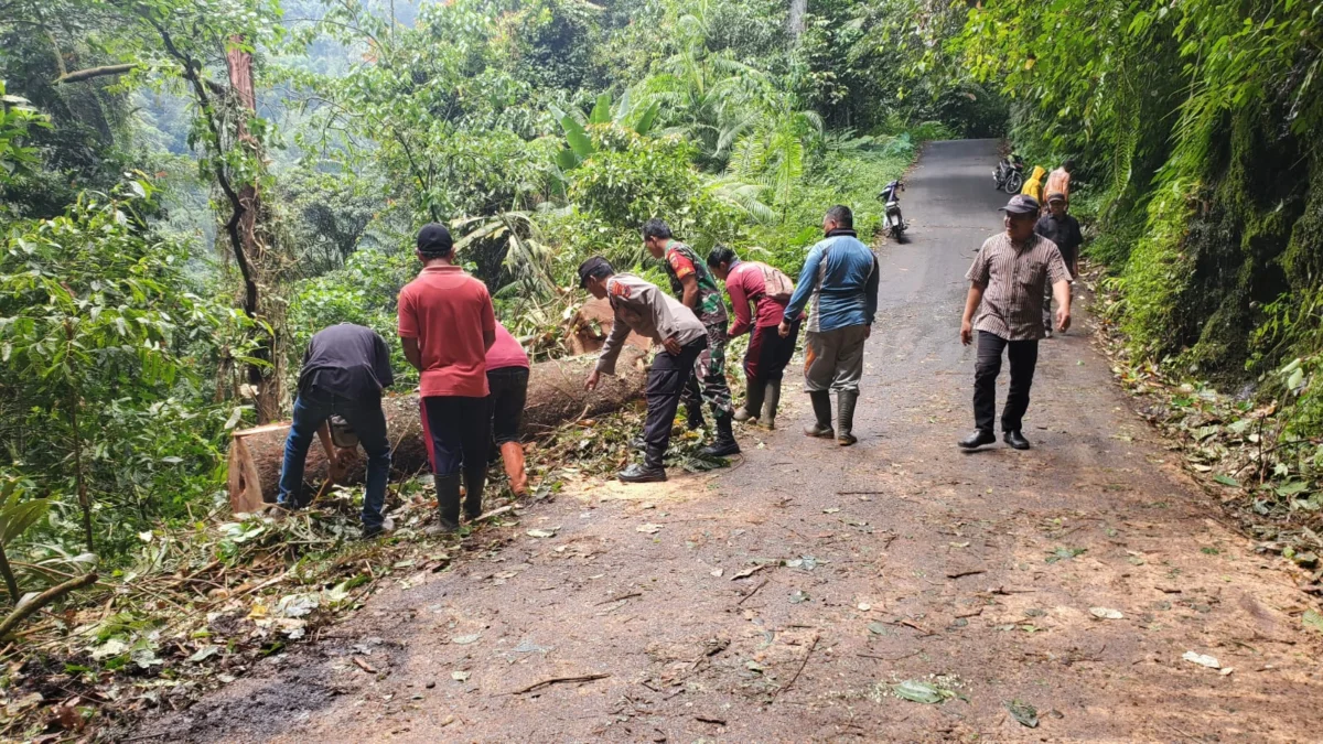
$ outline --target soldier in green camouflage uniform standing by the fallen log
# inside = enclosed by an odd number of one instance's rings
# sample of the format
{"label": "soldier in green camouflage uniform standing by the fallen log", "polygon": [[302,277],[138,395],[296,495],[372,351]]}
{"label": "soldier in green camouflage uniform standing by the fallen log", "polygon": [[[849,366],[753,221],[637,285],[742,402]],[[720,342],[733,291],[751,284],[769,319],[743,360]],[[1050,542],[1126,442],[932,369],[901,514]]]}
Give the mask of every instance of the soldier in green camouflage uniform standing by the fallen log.
{"label": "soldier in green camouflage uniform standing by the fallen log", "polygon": [[665,259],[665,271],[671,277],[671,290],[676,298],[693,310],[708,330],[708,348],[699,356],[695,376],[685,388],[685,406],[689,412],[689,428],[703,425],[703,401],[712,406],[717,417],[717,441],[704,447],[701,454],[726,457],[740,453],[732,429],[734,404],[730,400],[730,385],[726,384],[726,304],[721,290],[712,277],[705,261],[699,258],[688,245],[671,236],[671,228],[664,221],[652,218],[643,225],[643,245],[654,258]]}

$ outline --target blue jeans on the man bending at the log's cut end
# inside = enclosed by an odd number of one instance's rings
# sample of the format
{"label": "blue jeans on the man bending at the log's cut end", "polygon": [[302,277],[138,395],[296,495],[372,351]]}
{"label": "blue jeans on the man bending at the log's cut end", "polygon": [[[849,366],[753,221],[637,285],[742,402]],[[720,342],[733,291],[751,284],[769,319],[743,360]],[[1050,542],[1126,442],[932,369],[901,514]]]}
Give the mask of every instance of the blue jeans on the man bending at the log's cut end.
{"label": "blue jeans on the man bending at the log's cut end", "polygon": [[390,475],[390,442],[386,440],[386,414],[381,400],[351,400],[319,391],[299,393],[294,401],[294,422],[284,440],[284,465],[280,467],[280,490],[275,500],[284,507],[302,506],[303,466],[318,429],[332,416],[343,416],[359,443],[368,453],[368,478],[363,494],[363,527],[368,532],[381,528],[381,506],[386,500],[386,478]]}

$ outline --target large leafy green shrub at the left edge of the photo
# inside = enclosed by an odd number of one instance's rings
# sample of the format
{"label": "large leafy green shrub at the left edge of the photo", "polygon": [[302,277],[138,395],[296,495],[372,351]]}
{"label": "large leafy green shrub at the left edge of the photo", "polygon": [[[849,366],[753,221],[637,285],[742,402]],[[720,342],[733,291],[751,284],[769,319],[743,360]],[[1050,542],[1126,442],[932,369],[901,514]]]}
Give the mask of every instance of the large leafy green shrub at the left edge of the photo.
{"label": "large leafy green shrub at the left edge of the photo", "polygon": [[0,256],[0,440],[57,523],[77,503],[89,549],[94,522],[123,544],[217,485],[229,410],[200,383],[241,320],[189,291],[187,248],[142,221],[152,192],[86,193],[12,226]]}

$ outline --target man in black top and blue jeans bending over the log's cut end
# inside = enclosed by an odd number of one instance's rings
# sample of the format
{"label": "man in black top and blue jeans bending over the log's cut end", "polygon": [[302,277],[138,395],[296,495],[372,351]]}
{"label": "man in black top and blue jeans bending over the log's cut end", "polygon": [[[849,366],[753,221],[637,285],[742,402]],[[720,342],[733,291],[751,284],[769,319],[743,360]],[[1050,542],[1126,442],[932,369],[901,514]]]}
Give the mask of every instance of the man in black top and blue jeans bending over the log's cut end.
{"label": "man in black top and blue jeans bending over the log's cut end", "polygon": [[303,466],[319,437],[331,459],[332,473],[343,467],[343,455],[331,446],[329,420],[343,417],[368,453],[366,487],[363,495],[363,535],[381,534],[381,506],[386,499],[390,474],[390,442],[386,416],[381,412],[381,392],[394,384],[390,349],[372,328],[340,323],[308,342],[299,372],[299,396],[294,400],[294,421],[284,440],[284,465],[277,503],[284,508],[303,506]]}

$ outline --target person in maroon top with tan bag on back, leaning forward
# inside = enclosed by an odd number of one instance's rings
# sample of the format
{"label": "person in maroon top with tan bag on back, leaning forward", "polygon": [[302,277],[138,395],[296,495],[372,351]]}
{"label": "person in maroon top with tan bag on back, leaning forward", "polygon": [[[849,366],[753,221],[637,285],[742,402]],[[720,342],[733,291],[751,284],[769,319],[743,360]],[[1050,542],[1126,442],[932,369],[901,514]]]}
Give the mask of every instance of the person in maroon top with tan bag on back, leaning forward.
{"label": "person in maroon top with tan bag on back, leaning forward", "polygon": [[[795,355],[799,320],[791,324],[785,338],[777,327],[786,315],[795,285],[775,267],[758,261],[740,261],[736,252],[720,245],[708,254],[708,267],[725,282],[730,306],[736,308],[736,324],[730,327],[729,338],[734,339],[750,328],[753,332],[744,361],[747,391],[744,406],[736,410],[736,421],[753,420],[775,429],[781,380],[790,357]],[[749,312],[750,303],[757,310],[755,316]]]}

